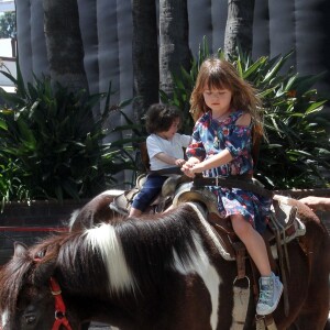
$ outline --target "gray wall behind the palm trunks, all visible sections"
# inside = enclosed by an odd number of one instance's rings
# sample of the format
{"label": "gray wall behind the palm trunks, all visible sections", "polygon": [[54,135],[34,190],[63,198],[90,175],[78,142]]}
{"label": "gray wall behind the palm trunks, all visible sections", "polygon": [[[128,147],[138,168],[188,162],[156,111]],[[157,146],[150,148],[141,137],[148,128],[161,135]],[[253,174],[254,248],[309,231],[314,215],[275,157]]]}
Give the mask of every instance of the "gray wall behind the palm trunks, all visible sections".
{"label": "gray wall behind the palm trunks, all visible sections", "polygon": [[[131,0],[77,0],[91,92],[106,91],[111,79],[113,102],[133,95]],[[194,55],[206,35],[211,50],[223,47],[227,0],[189,0],[189,44]],[[42,0],[16,1],[18,48],[26,81],[47,74]],[[329,70],[330,3],[327,0],[255,0],[253,56],[286,54],[301,75]],[[328,90],[329,74],[319,84]],[[131,110],[127,110],[129,113]],[[110,125],[119,124],[111,120]]]}

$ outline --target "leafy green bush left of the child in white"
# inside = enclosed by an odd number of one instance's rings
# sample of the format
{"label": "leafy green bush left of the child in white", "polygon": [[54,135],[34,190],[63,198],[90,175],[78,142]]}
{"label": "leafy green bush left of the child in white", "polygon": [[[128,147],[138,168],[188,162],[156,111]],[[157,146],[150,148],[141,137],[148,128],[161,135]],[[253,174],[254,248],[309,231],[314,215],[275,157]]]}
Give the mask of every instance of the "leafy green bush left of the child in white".
{"label": "leafy green bush left of the child in white", "polygon": [[[7,105],[0,109],[0,194],[7,200],[87,198],[117,183],[114,175],[134,169],[124,141],[105,143],[105,130],[113,110],[108,92],[89,96],[34,77],[24,86],[1,72],[16,86],[11,95],[0,89]],[[106,99],[105,109],[92,118],[92,109]]]}

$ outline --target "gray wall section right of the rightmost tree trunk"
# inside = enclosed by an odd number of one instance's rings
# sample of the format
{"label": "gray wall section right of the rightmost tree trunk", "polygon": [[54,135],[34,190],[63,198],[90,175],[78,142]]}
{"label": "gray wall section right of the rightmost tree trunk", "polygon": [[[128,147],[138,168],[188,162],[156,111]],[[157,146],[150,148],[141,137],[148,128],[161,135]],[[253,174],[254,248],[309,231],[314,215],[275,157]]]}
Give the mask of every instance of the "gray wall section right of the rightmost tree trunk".
{"label": "gray wall section right of the rightmost tree trunk", "polygon": [[255,0],[253,56],[286,54],[300,75],[327,73],[317,85],[330,86],[330,2],[327,0]]}

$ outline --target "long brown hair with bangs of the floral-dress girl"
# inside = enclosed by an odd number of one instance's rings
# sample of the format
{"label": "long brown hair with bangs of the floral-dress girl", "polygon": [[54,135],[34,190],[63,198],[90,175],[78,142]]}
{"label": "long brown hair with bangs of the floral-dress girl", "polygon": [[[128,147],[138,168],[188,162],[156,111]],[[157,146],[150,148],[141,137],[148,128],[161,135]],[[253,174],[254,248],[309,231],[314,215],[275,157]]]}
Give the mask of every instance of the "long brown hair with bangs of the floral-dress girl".
{"label": "long brown hair with bangs of the floral-dress girl", "polygon": [[235,110],[249,112],[252,117],[254,133],[264,135],[261,116],[262,101],[256,90],[239,76],[235,67],[228,61],[218,57],[207,58],[200,66],[196,85],[190,97],[190,113],[197,121],[210,109],[204,100],[204,90],[229,89],[232,92],[231,107]]}

